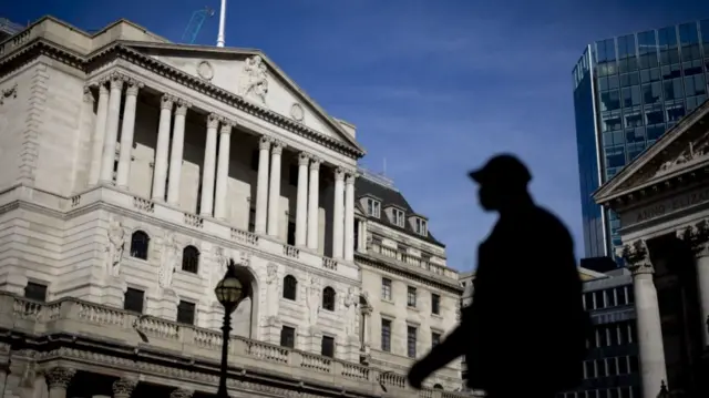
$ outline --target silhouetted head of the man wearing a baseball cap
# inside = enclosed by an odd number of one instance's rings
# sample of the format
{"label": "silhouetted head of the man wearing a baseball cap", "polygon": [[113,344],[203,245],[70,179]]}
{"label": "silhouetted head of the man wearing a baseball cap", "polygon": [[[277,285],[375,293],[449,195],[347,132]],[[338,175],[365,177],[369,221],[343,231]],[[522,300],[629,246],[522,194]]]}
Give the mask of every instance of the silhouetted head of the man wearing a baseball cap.
{"label": "silhouetted head of the man wearing a baseball cap", "polygon": [[469,175],[480,186],[477,196],[485,211],[504,212],[511,205],[530,197],[527,184],[532,181],[532,174],[514,155],[493,156],[484,166]]}

